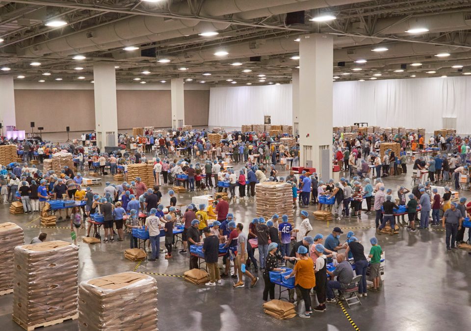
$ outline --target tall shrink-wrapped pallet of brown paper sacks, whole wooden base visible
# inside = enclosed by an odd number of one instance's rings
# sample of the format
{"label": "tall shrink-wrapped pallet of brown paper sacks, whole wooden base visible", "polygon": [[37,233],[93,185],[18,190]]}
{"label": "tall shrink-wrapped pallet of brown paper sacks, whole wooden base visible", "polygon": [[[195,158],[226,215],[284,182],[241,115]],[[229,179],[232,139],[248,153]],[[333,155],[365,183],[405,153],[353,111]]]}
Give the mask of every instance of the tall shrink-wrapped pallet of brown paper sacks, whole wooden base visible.
{"label": "tall shrink-wrapped pallet of brown paper sacks, whole wooden base visible", "polygon": [[78,247],[46,241],[15,247],[13,320],[24,329],[78,318]]}

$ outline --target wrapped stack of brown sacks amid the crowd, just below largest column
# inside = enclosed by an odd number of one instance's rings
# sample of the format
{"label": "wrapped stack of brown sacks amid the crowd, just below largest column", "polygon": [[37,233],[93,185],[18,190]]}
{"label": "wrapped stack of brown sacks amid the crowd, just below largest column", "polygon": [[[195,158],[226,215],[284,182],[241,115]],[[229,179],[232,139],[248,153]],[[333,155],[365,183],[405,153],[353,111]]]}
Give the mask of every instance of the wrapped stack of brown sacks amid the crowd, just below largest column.
{"label": "wrapped stack of brown sacks amid the crowd, just below largest column", "polygon": [[265,181],[255,185],[257,217],[268,219],[273,214],[288,215],[293,223],[293,198],[291,185],[274,181]]}

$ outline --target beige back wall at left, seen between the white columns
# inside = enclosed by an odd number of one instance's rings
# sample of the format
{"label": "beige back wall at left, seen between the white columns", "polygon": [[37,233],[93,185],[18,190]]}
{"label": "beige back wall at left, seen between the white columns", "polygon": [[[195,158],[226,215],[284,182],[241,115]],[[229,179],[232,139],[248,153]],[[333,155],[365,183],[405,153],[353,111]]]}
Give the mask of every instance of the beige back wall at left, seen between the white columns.
{"label": "beige back wall at left, seen between the white columns", "polygon": [[[93,90],[15,90],[16,124],[30,132],[89,131],[95,128]],[[209,90],[185,91],[185,124],[207,126]],[[117,90],[118,128],[171,127],[169,90]],[[37,131],[37,130],[35,130]]]}

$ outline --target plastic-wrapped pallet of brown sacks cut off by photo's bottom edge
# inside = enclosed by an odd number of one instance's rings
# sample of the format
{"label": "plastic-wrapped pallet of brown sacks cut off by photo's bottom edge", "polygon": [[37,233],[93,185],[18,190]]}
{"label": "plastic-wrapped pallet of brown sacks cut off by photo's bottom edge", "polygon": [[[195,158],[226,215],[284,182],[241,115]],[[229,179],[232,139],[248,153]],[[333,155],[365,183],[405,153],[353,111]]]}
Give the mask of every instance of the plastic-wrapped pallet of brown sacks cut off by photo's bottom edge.
{"label": "plastic-wrapped pallet of brown sacks cut off by photo's bottom edge", "polygon": [[78,286],[79,330],[157,330],[157,312],[157,280],[147,275],[124,272]]}

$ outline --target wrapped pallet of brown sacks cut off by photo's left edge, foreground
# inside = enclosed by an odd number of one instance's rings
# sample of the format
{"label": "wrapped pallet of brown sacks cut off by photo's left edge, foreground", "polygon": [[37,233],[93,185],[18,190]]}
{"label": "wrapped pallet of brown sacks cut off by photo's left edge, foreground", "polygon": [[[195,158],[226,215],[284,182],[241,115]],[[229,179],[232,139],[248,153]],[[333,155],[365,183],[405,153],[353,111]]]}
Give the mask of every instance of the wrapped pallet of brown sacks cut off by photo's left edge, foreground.
{"label": "wrapped pallet of brown sacks cut off by photo's left edge, foreground", "polygon": [[11,222],[0,224],[0,295],[13,292],[13,255],[15,247],[24,243],[22,228]]}

